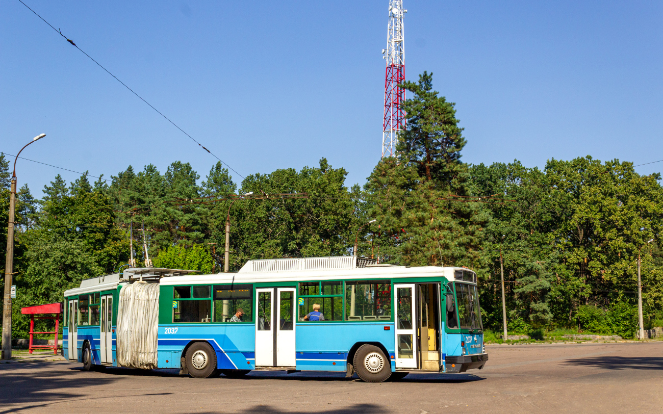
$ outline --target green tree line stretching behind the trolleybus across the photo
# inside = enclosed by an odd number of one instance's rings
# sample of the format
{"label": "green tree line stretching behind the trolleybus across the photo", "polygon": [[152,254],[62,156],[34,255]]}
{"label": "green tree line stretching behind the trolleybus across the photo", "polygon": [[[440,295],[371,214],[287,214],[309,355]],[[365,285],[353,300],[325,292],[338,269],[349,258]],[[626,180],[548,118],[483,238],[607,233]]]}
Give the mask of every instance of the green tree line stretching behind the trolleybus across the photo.
{"label": "green tree line stretching behind the trolleybus across the photo", "polygon": [[[23,185],[14,335],[27,335],[21,307],[61,301],[82,279],[127,264],[130,234],[138,266],[145,234],[154,266],[222,271],[227,217],[231,271],[250,259],[352,254],[355,239],[360,256],[381,262],[471,268],[479,276],[483,323],[495,331],[502,323],[502,260],[510,331],[573,327],[632,337],[639,257],[645,317],[660,319],[660,174],[640,176],[631,162],[591,156],[550,159],[542,169],[517,160],[466,164],[455,104],[434,91],[432,74],[402,87],[410,98],[397,156],[381,160],[363,187],[347,186],[347,171],[324,158],[318,166],[241,182],[220,162],[201,178],[177,161],[163,173],[152,164],[140,171],[128,166],[93,182],[88,173],[72,183],[58,175],[40,199]],[[4,245],[4,155],[0,191]]]}

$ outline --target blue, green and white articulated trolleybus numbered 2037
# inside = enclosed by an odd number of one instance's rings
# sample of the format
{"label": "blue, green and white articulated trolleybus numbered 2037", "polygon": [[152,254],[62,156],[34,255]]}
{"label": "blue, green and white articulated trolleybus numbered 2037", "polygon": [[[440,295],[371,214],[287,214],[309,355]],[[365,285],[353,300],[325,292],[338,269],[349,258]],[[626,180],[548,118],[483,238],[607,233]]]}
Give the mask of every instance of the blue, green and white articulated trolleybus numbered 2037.
{"label": "blue, green and white articulated trolleybus numbered 2037", "polygon": [[63,353],[84,369],[341,371],[367,382],[483,368],[477,276],[352,256],[233,273],[129,268],[64,293]]}

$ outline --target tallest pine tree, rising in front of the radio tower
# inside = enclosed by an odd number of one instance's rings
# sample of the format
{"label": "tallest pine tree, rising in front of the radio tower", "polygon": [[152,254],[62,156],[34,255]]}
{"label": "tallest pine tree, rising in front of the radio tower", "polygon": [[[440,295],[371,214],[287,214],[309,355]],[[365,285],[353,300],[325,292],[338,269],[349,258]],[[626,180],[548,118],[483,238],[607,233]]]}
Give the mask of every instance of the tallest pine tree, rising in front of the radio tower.
{"label": "tallest pine tree, rising in front of the radio tower", "polygon": [[438,96],[426,72],[402,87],[413,97],[404,103],[407,127],[398,136],[398,158],[383,158],[366,184],[383,256],[410,266],[468,266],[481,274],[490,217],[479,203],[457,202],[473,194],[467,164],[460,162],[465,138],[454,104]]}

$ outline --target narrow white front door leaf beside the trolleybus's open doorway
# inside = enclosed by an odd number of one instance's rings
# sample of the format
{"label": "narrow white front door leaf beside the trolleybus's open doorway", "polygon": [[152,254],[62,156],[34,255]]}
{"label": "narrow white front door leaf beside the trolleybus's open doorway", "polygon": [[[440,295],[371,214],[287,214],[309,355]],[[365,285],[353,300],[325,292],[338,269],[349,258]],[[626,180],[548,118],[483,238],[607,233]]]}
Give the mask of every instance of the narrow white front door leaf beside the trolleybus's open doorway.
{"label": "narrow white front door leaf beside the trolleybus's open doorway", "polygon": [[394,284],[396,368],[417,368],[414,284]]}

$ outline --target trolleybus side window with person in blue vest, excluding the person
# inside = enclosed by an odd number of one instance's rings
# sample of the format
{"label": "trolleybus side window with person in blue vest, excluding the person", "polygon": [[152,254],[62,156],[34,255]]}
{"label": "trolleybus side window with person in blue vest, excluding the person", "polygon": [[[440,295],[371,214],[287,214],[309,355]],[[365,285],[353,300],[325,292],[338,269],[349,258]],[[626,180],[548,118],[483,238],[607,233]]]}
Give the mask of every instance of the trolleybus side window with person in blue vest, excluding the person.
{"label": "trolleybus side window with person in blue vest, excluding the person", "polygon": [[304,318],[313,311],[313,305],[316,304],[320,305],[324,321],[343,321],[343,282],[300,283],[299,321],[307,321]]}

